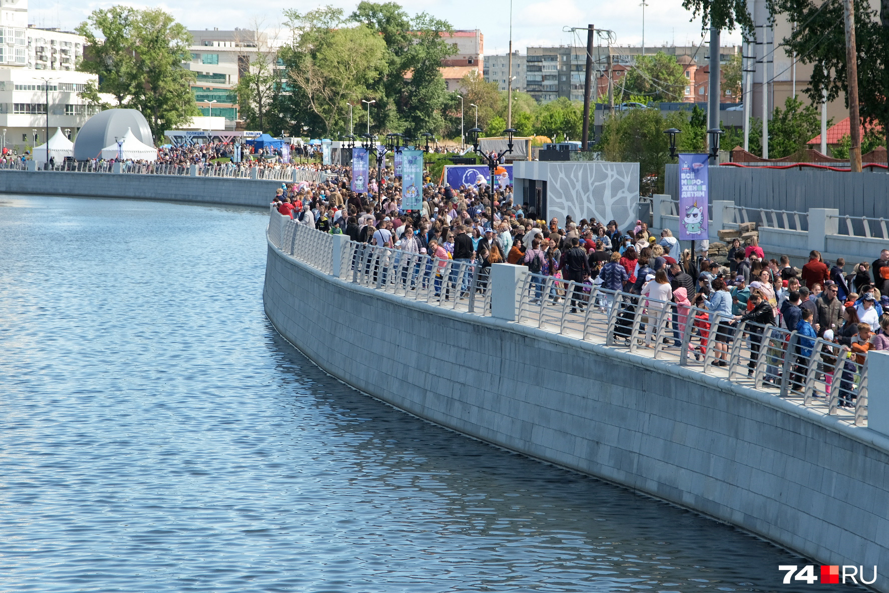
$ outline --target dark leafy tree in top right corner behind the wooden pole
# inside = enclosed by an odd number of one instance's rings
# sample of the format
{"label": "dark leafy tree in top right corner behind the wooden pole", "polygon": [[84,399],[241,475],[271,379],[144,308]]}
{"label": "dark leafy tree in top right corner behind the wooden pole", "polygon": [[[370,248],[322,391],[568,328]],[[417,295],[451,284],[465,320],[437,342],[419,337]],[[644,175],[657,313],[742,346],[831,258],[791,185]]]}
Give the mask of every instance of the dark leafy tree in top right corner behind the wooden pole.
{"label": "dark leafy tree in top right corner behind the wooden pole", "polygon": [[[858,95],[861,118],[889,134],[889,2],[877,14],[868,0],[854,0],[858,50]],[[770,10],[800,25],[782,40],[788,51],[813,71],[805,94],[820,104],[822,93],[835,100],[847,90],[842,0],[769,0]],[[848,100],[846,100],[848,105]],[[771,130],[770,130],[771,133]],[[863,139],[862,139],[863,140]],[[771,142],[770,142],[771,155]]]}

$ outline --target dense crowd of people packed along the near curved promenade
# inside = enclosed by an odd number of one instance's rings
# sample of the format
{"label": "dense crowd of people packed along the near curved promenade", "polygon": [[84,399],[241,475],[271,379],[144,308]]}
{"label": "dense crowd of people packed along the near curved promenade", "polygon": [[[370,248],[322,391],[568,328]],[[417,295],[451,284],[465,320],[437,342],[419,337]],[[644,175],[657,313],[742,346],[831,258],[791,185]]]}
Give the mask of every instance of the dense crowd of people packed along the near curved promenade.
{"label": "dense crowd of people packed along the near curved promenade", "polygon": [[[406,212],[400,180],[391,170],[368,193],[349,189],[348,168],[337,173],[324,183],[283,184],[274,201],[278,212],[359,243],[467,262],[480,267],[481,277],[493,263],[526,266],[533,273],[531,302],[541,305],[568,298],[573,312],[589,306],[609,312],[623,295],[632,295],[626,302],[631,309],[643,308],[643,342],[650,348],[658,330],[652,320],[665,306],[661,303],[675,303],[670,331],[663,333],[669,335],[669,346],[680,346],[685,325],[692,324],[697,341],[693,355],[700,359],[714,341],[712,365],[728,364],[738,324],[747,322],[750,374],[760,349],[774,346],[762,343],[765,326],[796,331],[797,360],[790,377],[796,390],[815,338],[836,343],[841,357],[859,364],[869,350],[889,349],[889,250],[851,270],[843,259],[825,262],[821,253],[812,252],[802,268],[795,268],[787,256],[766,258],[755,239],[751,244],[735,240],[728,261],[711,260],[680,251],[669,229],[654,236],[641,220],[623,229],[615,220],[593,217],[539,220],[536,212],[525,212],[514,201],[509,186],[493,191],[485,183],[452,188],[427,177],[420,211]],[[542,294],[549,276],[574,281],[573,292],[566,294],[556,288],[565,284],[555,282],[549,283],[549,294]],[[594,285],[605,291],[590,302]],[[845,383],[851,383],[845,375],[852,369],[837,363],[836,353],[825,351],[821,357],[821,367],[832,360]],[[780,375],[780,368],[770,366],[765,382],[779,382]]]}

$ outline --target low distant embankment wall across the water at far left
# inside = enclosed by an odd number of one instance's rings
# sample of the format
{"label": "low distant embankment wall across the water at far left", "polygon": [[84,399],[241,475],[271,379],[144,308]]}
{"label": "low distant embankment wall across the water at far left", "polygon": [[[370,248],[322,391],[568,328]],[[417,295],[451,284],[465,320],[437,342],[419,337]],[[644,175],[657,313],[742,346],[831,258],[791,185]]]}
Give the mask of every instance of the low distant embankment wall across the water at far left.
{"label": "low distant embankment wall across the water at far left", "polygon": [[268,207],[281,181],[0,169],[0,194],[122,197]]}

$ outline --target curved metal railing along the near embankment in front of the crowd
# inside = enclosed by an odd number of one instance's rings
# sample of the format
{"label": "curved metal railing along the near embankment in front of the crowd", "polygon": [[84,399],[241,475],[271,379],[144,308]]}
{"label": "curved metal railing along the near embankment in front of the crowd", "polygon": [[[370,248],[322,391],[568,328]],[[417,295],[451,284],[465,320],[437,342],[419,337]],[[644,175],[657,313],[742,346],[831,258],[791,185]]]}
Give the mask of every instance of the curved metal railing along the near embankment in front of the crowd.
{"label": "curved metal railing along the near embankment in front of the crowd", "polygon": [[[332,274],[331,235],[272,209],[268,237],[283,252]],[[346,282],[491,315],[489,269],[477,262],[348,241],[339,269]],[[775,325],[732,324],[732,318],[708,309],[530,272],[514,298],[519,324],[715,375],[850,424],[867,421],[867,362],[858,363],[836,343]]]}

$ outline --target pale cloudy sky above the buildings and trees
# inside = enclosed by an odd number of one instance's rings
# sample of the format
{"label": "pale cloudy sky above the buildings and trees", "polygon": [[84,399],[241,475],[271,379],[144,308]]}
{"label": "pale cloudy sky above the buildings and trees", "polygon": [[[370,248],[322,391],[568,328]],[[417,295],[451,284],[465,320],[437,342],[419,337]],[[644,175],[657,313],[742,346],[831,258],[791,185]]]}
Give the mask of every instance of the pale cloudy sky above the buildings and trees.
{"label": "pale cloudy sky above the buildings and trees", "polygon": [[[378,0],[380,1],[380,0]],[[514,0],[512,4],[513,49],[525,53],[529,45],[585,45],[586,33],[564,32],[565,27],[596,28],[614,31],[619,45],[640,45],[643,42],[642,0]],[[293,8],[305,12],[322,4],[333,4],[351,12],[356,0],[265,0],[245,3],[243,0],[209,0],[209,2],[104,2],[81,0],[29,0],[28,22],[37,27],[60,27],[71,30],[85,20],[90,12],[114,4],[134,7],[163,8],[190,29],[236,27],[249,28],[253,22],[266,27],[279,27],[282,11]],[[505,53],[509,48],[509,1],[471,2],[470,0],[413,0],[407,12],[428,12],[451,23],[453,28],[480,28],[485,36],[485,54]],[[645,47],[663,44],[691,45],[701,43],[701,20],[690,20],[691,13],[682,7],[682,0],[648,0],[645,7]],[[723,33],[722,44],[740,44],[738,31]]]}

